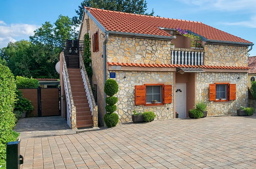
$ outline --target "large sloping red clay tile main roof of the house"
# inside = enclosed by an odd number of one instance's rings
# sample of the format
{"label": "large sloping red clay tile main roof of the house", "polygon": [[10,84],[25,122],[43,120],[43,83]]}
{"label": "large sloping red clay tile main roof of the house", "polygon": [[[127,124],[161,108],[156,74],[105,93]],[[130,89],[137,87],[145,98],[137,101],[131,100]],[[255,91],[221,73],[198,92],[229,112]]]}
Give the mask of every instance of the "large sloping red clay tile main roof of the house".
{"label": "large sloping red clay tile main roof of the house", "polygon": [[251,43],[248,40],[231,35],[219,29],[205,25],[201,22],[116,12],[88,7],[85,7],[85,9],[89,11],[93,15],[93,17],[95,17],[100,22],[100,24],[108,31],[171,36],[169,33],[159,28],[181,28],[184,30],[192,31],[209,40]]}

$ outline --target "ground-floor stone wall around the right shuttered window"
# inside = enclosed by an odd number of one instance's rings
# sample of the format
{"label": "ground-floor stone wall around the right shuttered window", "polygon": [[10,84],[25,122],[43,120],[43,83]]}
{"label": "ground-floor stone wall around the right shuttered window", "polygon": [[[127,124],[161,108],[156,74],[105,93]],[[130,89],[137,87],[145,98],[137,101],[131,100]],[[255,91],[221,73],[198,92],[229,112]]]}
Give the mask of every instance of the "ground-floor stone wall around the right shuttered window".
{"label": "ground-floor stone wall around the right shuttered window", "polygon": [[[237,84],[237,98],[228,102],[209,101],[209,84],[214,82]],[[196,100],[207,103],[208,115],[236,114],[240,106],[247,106],[247,73],[197,73]]]}

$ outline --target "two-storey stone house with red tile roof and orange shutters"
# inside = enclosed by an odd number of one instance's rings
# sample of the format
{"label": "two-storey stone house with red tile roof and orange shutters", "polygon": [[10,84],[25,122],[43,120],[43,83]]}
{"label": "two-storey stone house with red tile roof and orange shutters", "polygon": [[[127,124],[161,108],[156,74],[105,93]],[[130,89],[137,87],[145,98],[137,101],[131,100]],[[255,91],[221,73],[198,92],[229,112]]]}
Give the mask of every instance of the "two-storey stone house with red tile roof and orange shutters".
{"label": "two-storey stone house with red tile roof and orange shutters", "polygon": [[[191,49],[177,28],[199,36],[202,48]],[[250,41],[201,22],[87,7],[79,40],[86,33],[101,124],[108,78],[119,84],[120,122],[130,122],[134,110],[153,111],[156,119],[175,118],[175,112],[188,117],[199,101],[207,103],[208,115],[234,114],[247,105]]]}

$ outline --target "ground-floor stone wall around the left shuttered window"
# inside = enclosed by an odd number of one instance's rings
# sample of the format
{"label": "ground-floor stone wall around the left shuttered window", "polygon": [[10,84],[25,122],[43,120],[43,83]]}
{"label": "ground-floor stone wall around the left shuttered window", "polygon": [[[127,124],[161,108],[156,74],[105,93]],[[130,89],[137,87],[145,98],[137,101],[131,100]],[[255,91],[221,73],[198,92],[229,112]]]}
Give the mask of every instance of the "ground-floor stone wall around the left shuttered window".
{"label": "ground-floor stone wall around the left shuttered window", "polygon": [[[153,111],[156,119],[170,119],[173,117],[173,101],[170,104],[158,106],[135,105],[135,85],[146,83],[164,83],[173,85],[173,72],[145,72],[145,71],[111,71],[116,72],[114,78],[119,85],[119,92],[115,95],[118,98],[116,113],[120,122],[131,122],[132,111],[145,112]],[[108,74],[109,77],[109,74]],[[126,78],[124,78],[126,77]],[[173,97],[172,97],[173,99]]]}

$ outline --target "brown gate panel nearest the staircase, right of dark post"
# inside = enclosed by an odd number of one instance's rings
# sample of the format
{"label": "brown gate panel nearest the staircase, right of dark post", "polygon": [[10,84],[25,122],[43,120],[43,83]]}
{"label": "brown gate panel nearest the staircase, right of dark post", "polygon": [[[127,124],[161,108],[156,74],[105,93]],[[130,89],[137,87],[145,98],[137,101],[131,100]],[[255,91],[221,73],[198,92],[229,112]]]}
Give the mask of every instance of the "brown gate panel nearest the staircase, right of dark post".
{"label": "brown gate panel nearest the staircase, right of dark post", "polygon": [[42,116],[60,115],[58,103],[58,88],[41,89]]}

